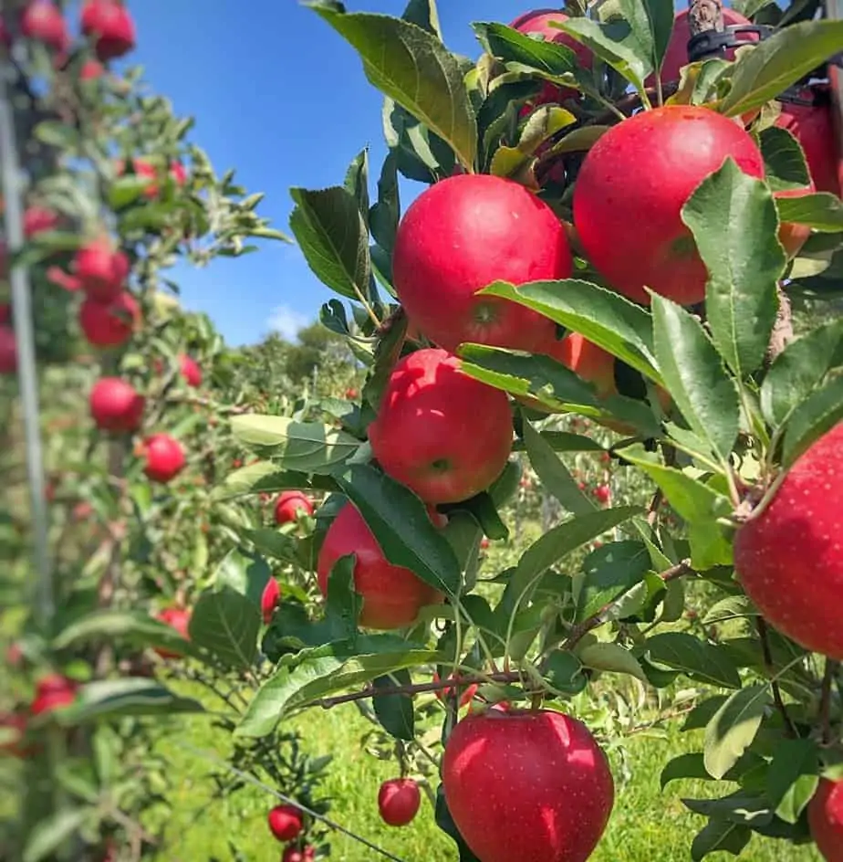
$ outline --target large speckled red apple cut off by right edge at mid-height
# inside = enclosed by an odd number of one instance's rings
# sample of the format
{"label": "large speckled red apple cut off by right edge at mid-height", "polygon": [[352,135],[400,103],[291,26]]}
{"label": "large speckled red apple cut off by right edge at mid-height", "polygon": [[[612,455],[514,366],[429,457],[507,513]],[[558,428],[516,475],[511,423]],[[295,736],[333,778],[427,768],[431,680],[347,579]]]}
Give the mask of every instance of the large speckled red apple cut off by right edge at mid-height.
{"label": "large speckled red apple cut off by right edge at mid-height", "polygon": [[734,539],[734,569],[767,622],[843,659],[843,423],[796,459]]}

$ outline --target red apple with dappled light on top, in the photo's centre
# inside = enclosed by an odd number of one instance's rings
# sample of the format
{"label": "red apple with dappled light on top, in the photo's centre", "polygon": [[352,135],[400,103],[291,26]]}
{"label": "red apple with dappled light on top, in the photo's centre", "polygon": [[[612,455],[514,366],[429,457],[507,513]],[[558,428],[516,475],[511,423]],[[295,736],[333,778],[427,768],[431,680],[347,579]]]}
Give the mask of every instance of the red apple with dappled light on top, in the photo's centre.
{"label": "red apple with dappled light on top, in the photo's centre", "polygon": [[390,373],[369,442],[380,466],[428,503],[473,497],[500,476],[512,450],[505,393],[427,348]]}

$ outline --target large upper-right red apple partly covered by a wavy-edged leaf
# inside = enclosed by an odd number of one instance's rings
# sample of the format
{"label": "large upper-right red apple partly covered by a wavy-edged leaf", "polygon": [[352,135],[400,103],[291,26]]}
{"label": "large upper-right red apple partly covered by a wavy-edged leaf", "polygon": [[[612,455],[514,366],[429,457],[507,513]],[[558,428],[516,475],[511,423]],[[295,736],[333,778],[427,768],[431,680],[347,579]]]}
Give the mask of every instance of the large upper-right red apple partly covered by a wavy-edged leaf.
{"label": "large upper-right red apple partly covered by a wavy-edged leaf", "polygon": [[607,131],[588,151],[574,189],[574,224],[595,268],[631,300],[644,286],[683,305],[705,297],[706,269],[682,222],[694,189],[731,156],[764,176],[755,141],[708,108],[644,110]]}

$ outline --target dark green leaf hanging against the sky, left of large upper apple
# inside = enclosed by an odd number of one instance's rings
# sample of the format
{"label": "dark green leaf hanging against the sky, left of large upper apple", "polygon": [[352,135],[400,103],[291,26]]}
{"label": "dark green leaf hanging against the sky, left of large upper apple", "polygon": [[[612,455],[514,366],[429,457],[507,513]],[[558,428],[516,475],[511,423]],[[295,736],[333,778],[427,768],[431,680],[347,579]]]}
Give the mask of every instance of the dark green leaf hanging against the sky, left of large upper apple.
{"label": "dark green leaf hanging against the sky, left of large upper apple", "polygon": [[349,300],[369,297],[369,231],[357,199],[338,186],[291,188],[290,227],[317,278]]}

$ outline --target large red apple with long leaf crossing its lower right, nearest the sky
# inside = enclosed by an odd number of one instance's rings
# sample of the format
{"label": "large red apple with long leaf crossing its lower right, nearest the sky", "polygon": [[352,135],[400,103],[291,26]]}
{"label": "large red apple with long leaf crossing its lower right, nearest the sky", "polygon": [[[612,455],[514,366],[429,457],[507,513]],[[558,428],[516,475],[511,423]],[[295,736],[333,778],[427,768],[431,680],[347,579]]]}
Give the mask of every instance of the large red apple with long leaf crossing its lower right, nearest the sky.
{"label": "large red apple with long leaf crossing its lower right, nearest the sky", "polygon": [[432,185],[401,219],[392,263],[411,320],[433,342],[532,350],[554,329],[515,302],[475,296],[493,281],[515,285],[571,274],[567,236],[553,210],[523,185],[461,174]]}

